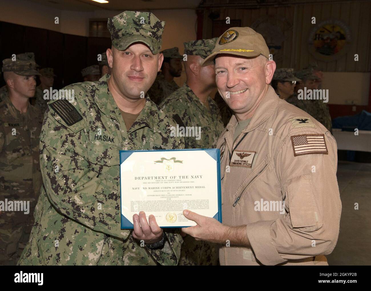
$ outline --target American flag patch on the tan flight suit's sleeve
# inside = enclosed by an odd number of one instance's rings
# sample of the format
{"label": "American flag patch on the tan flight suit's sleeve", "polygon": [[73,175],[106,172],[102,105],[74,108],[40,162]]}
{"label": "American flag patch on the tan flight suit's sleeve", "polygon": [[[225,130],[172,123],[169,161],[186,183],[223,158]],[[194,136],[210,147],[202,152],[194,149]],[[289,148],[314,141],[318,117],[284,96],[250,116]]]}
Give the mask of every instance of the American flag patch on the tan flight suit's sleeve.
{"label": "American flag patch on the tan flight suit's sleeve", "polygon": [[309,155],[311,153],[328,154],[325,135],[308,134],[291,136],[294,156]]}

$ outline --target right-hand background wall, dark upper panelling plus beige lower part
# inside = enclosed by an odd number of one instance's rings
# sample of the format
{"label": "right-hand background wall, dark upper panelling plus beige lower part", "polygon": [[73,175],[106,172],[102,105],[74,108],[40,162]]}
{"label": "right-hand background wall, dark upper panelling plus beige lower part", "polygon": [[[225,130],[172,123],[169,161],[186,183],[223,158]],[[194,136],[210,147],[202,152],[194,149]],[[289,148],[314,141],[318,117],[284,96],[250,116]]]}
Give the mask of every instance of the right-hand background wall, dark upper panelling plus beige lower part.
{"label": "right-hand background wall, dark upper panelling plus beige lower part", "polygon": [[[216,20],[241,20],[241,26],[256,26],[267,22],[270,17],[271,32],[279,28],[283,32],[281,48],[277,53],[277,68],[302,69],[308,64],[317,63],[324,71],[322,88],[329,89],[331,117],[352,115],[361,110],[371,111],[370,71],[371,71],[371,1],[347,1],[328,4],[301,4],[286,7],[264,7],[260,9],[213,9],[219,12]],[[211,10],[200,10],[197,35],[211,38],[213,21]],[[311,18],[316,23],[338,19],[351,30],[352,40],[347,54],[331,62],[315,59],[308,50],[308,38],[312,28]],[[230,26],[226,25],[226,29]],[[272,39],[275,33],[270,33]],[[266,39],[269,43],[272,39]],[[354,60],[359,55],[359,61]],[[341,72],[341,73],[340,73]],[[326,87],[325,87],[326,86]],[[350,105],[351,103],[356,106]]]}

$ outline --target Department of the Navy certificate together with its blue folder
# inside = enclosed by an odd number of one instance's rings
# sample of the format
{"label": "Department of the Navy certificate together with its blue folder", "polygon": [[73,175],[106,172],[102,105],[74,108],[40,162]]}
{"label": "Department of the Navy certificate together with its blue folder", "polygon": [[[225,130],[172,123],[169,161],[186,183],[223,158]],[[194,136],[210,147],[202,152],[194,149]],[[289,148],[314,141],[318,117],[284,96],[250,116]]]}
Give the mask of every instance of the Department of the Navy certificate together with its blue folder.
{"label": "Department of the Navy certificate together with its blue folder", "polygon": [[188,209],[221,222],[219,149],[120,151],[121,229],[133,215],[154,215],[160,227],[194,226]]}

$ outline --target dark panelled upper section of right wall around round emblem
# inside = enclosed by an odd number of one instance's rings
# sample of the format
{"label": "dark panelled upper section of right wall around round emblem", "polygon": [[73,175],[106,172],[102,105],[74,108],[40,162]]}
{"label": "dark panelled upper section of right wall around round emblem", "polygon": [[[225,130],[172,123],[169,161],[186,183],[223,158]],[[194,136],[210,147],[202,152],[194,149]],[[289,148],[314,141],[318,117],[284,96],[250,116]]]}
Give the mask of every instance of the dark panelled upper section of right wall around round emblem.
{"label": "dark panelled upper section of right wall around round emblem", "polygon": [[[253,26],[271,16],[271,22],[284,33],[280,59],[275,59],[278,68],[300,69],[317,62],[327,72],[370,72],[371,71],[371,1],[349,1],[331,4],[305,4],[287,7],[265,7],[260,9],[213,9],[219,12],[217,20],[226,17],[240,19],[241,26]],[[204,12],[203,38],[211,38],[213,23],[209,19],[210,11]],[[342,20],[350,26],[352,41],[349,52],[341,59],[332,62],[316,60],[308,51],[308,38],[311,29],[311,17],[316,23],[327,19]],[[274,30],[274,26],[270,28]],[[218,35],[220,36],[220,35]],[[269,40],[267,40],[267,43]],[[359,61],[354,61],[354,54]]]}

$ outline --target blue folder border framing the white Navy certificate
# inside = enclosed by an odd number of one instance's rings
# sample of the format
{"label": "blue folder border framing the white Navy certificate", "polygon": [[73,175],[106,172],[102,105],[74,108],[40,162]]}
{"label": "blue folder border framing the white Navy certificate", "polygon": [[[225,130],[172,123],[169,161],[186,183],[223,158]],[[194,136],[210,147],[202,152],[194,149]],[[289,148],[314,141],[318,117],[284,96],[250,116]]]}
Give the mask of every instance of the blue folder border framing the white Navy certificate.
{"label": "blue folder border framing the white Navy certificate", "polygon": [[[191,151],[205,151],[207,154],[211,156],[216,161],[216,169],[217,172],[217,191],[218,191],[218,212],[214,215],[214,219],[217,219],[220,223],[221,220],[221,185],[220,185],[220,150],[219,149],[168,149],[168,150],[150,150],[150,151],[120,151],[120,199],[122,200],[122,193],[121,191],[121,164],[129,158],[135,152],[177,152],[177,151],[190,151],[190,155],[192,155]],[[120,213],[121,213],[121,229],[133,229],[133,224],[122,215],[121,209],[121,201],[120,201]],[[191,210],[191,209],[190,209]],[[191,210],[192,211],[192,210]],[[146,216],[150,215],[151,213],[146,212]],[[187,227],[187,226],[163,226],[162,228],[179,228],[179,227]]]}

